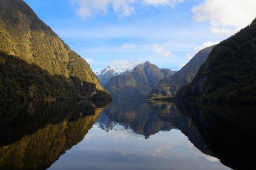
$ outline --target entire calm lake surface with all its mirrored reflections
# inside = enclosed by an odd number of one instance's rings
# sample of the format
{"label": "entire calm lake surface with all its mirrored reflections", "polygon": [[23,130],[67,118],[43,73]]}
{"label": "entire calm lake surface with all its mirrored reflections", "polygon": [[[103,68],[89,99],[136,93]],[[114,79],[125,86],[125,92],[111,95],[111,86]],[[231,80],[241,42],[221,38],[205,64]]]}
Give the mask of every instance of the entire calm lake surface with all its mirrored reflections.
{"label": "entire calm lake surface with all its mirrored reflections", "polygon": [[0,169],[255,169],[256,106],[0,104]]}

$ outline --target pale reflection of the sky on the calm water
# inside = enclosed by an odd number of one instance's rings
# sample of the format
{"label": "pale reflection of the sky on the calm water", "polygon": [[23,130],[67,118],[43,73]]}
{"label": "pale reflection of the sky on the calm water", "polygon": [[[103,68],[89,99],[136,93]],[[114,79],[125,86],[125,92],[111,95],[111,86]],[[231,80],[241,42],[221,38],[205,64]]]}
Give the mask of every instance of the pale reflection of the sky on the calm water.
{"label": "pale reflection of the sky on the calm water", "polygon": [[229,169],[203,154],[180,130],[149,139],[116,125],[106,132],[97,124],[49,169]]}

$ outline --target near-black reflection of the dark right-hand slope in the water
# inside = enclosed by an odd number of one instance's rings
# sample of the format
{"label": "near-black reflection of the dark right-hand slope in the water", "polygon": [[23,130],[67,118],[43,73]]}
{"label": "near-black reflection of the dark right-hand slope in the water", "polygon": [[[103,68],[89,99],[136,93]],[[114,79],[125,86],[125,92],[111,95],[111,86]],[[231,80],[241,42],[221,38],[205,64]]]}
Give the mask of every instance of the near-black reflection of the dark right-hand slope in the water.
{"label": "near-black reflection of the dark right-hand slope in the water", "polygon": [[183,105],[215,157],[233,169],[255,169],[255,106]]}

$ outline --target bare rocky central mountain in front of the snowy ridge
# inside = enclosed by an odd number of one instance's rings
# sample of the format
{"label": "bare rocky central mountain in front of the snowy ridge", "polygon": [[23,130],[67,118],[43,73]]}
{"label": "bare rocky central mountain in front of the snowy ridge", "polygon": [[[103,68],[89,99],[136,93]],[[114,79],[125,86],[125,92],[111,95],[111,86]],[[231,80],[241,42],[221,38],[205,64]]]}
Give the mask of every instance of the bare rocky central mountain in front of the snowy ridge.
{"label": "bare rocky central mountain in front of the snowy ridge", "polygon": [[161,79],[173,74],[169,69],[159,69],[156,65],[145,62],[128,74],[111,78],[105,88],[113,98],[145,98]]}

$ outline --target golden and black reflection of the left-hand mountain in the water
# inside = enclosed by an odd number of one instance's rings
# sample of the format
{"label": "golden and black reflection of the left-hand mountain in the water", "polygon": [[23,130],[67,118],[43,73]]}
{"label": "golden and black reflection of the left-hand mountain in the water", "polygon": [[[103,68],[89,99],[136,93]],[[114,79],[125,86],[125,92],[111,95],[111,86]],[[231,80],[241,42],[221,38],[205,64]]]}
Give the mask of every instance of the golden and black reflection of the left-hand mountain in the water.
{"label": "golden and black reflection of the left-hand mountain in the water", "polygon": [[1,108],[0,169],[49,167],[84,138],[102,111],[90,103],[31,103]]}

